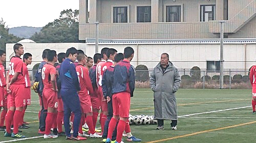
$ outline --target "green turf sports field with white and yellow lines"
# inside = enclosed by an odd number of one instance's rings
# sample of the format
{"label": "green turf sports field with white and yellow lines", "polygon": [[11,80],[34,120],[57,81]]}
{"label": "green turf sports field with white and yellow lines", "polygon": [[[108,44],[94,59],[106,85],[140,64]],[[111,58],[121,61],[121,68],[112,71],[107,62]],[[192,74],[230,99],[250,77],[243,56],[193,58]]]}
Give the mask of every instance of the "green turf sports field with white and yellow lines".
{"label": "green turf sports field with white and yellow lines", "polygon": [[[39,136],[37,112],[38,97],[32,92],[32,105],[28,107],[25,121],[30,129],[23,129],[26,140],[16,142],[68,142],[65,137],[43,139]],[[252,115],[250,90],[196,90],[180,89],[177,94],[177,131],[170,130],[170,121],[165,121],[164,130],[155,130],[156,125],[132,125],[132,134],[142,142],[255,142],[256,115]],[[137,89],[131,100],[132,115],[154,115],[153,92]],[[100,127],[98,124],[97,127]],[[33,138],[33,139],[32,139]],[[124,142],[127,142],[123,137]],[[14,141],[0,135],[0,142]],[[70,141],[70,140],[69,140]],[[100,142],[88,138],[81,142]]]}

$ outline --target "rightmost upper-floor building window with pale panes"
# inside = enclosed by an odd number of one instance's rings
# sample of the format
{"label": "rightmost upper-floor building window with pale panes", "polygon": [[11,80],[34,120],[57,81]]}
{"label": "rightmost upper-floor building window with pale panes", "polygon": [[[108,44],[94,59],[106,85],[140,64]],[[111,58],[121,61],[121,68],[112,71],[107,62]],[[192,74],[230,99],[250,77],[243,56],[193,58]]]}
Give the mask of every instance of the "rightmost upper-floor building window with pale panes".
{"label": "rightmost upper-floor building window with pale panes", "polygon": [[201,5],[201,18],[200,21],[215,20],[215,5]]}

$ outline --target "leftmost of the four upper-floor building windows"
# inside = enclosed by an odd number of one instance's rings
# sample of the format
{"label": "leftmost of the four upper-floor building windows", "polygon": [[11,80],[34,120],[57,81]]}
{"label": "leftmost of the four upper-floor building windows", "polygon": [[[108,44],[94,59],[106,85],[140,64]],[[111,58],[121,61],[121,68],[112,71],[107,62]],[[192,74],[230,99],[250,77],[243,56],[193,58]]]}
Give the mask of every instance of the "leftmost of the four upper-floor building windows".
{"label": "leftmost of the four upper-floor building windows", "polygon": [[114,7],[114,23],[127,23],[127,7]]}

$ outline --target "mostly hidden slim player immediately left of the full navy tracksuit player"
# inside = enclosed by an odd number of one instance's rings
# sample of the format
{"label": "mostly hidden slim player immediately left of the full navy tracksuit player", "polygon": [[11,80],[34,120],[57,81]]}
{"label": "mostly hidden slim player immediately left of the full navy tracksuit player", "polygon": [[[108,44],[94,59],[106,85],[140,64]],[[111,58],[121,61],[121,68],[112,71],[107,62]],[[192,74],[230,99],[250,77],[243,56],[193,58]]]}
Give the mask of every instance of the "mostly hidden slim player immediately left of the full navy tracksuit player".
{"label": "mostly hidden slim player immediately left of the full navy tracksuit player", "polygon": [[[66,53],[60,52],[57,55],[59,64],[56,66],[56,81],[57,81],[57,88],[58,88],[58,114],[57,114],[57,129],[58,129],[58,136],[66,136],[66,133],[62,130],[62,119],[64,117],[64,107],[63,107],[63,101],[61,99],[60,95],[60,83],[59,80],[59,69],[61,63],[66,59]],[[56,135],[56,134],[55,134]]]}

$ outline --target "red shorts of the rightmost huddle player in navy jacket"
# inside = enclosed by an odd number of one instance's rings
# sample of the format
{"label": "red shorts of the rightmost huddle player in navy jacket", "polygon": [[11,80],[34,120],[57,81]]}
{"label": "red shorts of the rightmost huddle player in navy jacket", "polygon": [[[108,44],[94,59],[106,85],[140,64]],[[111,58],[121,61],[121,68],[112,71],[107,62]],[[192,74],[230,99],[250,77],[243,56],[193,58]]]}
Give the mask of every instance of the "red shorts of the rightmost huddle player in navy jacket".
{"label": "red shorts of the rightmost huddle player in navy jacket", "polygon": [[121,118],[128,118],[130,111],[131,95],[127,92],[116,93],[113,95],[113,115]]}

